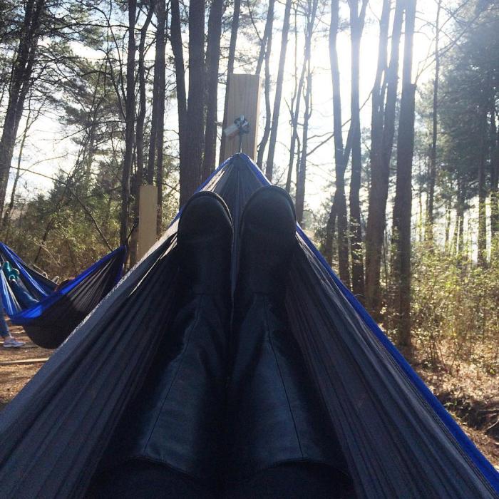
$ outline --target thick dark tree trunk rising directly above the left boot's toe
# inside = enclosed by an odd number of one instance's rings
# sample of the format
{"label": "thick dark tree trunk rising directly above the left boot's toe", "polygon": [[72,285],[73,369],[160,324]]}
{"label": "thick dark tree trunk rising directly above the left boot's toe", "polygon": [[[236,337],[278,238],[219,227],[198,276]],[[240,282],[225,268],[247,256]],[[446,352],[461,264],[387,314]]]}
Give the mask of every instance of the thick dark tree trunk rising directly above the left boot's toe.
{"label": "thick dark tree trunk rising directly above the left boot's toe", "polygon": [[180,205],[185,204],[201,182],[205,137],[204,82],[205,2],[193,0],[189,6],[189,96],[187,97],[185,163],[180,165]]}

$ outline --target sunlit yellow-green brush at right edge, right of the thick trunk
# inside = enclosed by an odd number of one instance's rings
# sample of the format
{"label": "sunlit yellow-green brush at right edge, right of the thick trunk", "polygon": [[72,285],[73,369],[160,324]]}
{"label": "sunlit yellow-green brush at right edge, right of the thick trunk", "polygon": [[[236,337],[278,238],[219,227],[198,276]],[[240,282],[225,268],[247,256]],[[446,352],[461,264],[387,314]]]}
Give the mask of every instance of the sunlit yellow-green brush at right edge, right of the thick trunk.
{"label": "sunlit yellow-green brush at right edge, right of the thick trunk", "polygon": [[412,319],[418,356],[433,369],[473,364],[499,372],[499,263],[489,268],[418,244]]}

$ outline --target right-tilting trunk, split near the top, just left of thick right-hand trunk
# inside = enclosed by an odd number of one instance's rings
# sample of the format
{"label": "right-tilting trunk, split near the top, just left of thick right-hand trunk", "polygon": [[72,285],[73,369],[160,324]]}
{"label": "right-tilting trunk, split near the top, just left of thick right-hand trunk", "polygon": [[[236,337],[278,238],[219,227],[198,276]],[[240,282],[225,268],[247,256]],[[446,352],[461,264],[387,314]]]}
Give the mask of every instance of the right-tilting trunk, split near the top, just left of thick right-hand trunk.
{"label": "right-tilting trunk, split near the top, just left of thick right-hand trunk", "polygon": [[[385,6],[385,5],[384,5]],[[384,12],[385,14],[385,12]],[[378,68],[373,90],[373,120],[371,123],[371,188],[366,227],[366,306],[375,319],[380,319],[381,309],[381,254],[386,225],[386,200],[388,197],[390,160],[395,132],[395,110],[398,86],[398,54],[403,21],[402,1],[397,0],[391,35],[390,64],[386,70],[386,88],[381,82],[383,67]],[[384,43],[384,26],[381,17],[380,45]],[[381,48],[381,47],[380,47]],[[379,63],[383,63],[381,56]],[[378,80],[379,77],[379,80]],[[376,86],[378,85],[379,86]],[[385,98],[386,93],[386,98]]]}

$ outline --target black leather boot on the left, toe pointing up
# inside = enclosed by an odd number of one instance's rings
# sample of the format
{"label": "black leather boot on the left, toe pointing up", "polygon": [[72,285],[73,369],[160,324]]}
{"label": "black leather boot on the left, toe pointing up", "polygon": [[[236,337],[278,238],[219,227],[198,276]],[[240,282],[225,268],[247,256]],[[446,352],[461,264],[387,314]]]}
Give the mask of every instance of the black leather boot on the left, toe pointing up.
{"label": "black leather boot on the left, toe pointing up", "polygon": [[[200,192],[187,202],[175,251],[178,313],[106,456],[117,470],[126,461],[128,469],[135,463],[145,473],[144,480],[130,482],[130,497],[158,497],[158,484],[134,490],[137,483],[150,482],[151,473],[160,474],[158,465],[149,470],[145,461],[165,467],[165,483],[175,482],[172,470],[192,479],[192,486],[204,491],[199,497],[215,493],[223,469],[232,220],[219,196]],[[122,480],[118,471],[114,475]],[[101,490],[113,489],[114,475],[103,474]],[[180,485],[168,486],[164,497],[175,497]]]}

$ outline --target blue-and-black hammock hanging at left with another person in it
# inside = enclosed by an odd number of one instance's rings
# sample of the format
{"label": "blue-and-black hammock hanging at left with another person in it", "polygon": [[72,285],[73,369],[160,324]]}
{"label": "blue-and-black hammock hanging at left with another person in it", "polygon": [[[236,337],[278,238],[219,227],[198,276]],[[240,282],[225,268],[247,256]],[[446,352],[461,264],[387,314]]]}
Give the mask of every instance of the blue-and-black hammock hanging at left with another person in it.
{"label": "blue-and-black hammock hanging at left with another person in it", "polygon": [[0,242],[0,264],[19,271],[12,284],[0,271],[0,294],[12,324],[24,327],[38,346],[57,348],[110,292],[123,273],[126,249],[119,247],[56,291],[56,283],[23,262]]}

